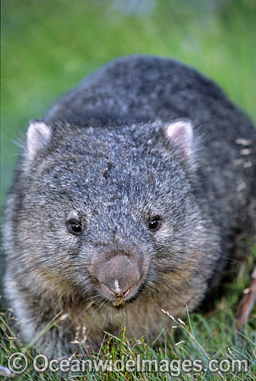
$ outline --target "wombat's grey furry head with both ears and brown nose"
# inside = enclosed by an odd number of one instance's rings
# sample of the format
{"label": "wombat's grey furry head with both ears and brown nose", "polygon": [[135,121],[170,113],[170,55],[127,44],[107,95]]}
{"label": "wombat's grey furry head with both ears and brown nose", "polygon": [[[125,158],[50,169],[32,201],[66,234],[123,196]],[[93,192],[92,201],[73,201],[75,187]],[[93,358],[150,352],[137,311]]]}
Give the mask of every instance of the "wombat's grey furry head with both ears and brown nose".
{"label": "wombat's grey furry head with both ears and brown nose", "polygon": [[195,151],[190,121],[31,121],[6,213],[17,274],[109,316],[198,303],[213,259]]}

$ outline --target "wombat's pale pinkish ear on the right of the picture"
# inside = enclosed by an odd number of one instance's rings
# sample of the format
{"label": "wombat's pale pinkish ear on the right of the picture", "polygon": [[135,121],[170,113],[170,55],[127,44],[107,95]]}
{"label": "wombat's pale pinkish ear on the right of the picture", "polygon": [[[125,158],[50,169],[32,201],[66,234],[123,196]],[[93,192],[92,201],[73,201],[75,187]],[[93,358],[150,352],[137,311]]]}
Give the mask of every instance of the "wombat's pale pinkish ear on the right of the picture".
{"label": "wombat's pale pinkish ear on the right of the picture", "polygon": [[193,150],[193,127],[188,120],[174,121],[165,127],[165,136],[185,158],[190,160]]}

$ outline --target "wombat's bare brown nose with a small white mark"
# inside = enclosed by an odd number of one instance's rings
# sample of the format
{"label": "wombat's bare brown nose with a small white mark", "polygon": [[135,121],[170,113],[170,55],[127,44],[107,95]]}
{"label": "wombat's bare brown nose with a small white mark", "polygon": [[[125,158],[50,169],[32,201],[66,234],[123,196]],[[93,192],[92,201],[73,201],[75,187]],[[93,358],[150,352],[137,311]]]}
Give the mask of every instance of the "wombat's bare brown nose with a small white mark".
{"label": "wombat's bare brown nose with a small white mark", "polygon": [[117,297],[128,299],[134,294],[140,275],[136,263],[120,255],[100,264],[95,278],[100,282],[102,294],[113,301]]}

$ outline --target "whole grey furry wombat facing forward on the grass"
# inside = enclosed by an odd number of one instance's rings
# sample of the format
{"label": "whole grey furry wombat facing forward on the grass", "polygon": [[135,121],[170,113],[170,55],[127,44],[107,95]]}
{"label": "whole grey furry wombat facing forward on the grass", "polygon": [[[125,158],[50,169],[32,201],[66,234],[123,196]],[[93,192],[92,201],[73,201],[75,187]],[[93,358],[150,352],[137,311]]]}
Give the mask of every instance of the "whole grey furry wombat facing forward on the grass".
{"label": "whole grey furry wombat facing forward on the grass", "polygon": [[3,227],[24,340],[73,353],[118,319],[154,337],[162,308],[200,305],[255,224],[255,145],[212,80],[150,55],[113,60],[30,121]]}

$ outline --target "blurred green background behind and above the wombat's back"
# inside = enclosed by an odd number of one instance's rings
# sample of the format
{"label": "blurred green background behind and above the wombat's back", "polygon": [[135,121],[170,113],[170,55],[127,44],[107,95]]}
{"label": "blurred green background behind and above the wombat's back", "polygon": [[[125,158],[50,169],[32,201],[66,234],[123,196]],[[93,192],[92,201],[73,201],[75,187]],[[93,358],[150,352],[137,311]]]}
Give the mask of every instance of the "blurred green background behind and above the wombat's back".
{"label": "blurred green background behind and above the wombat's back", "polygon": [[255,121],[255,14],[255,0],[3,1],[1,205],[28,120],[119,55],[183,60]]}

